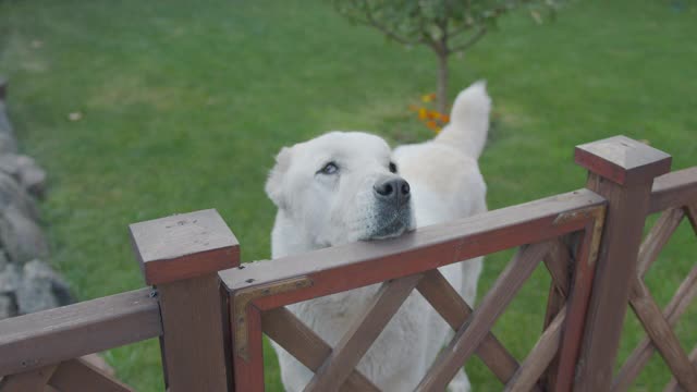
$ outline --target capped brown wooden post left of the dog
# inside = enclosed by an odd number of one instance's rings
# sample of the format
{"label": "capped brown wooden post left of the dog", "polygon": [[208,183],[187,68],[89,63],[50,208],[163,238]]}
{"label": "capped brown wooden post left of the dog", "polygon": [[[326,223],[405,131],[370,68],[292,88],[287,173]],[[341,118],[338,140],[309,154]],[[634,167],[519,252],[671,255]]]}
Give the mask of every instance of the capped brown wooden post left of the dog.
{"label": "capped brown wooden post left of the dog", "polygon": [[130,225],[162,317],[162,367],[171,392],[231,390],[228,318],[218,271],[240,265],[240,246],[216,210]]}

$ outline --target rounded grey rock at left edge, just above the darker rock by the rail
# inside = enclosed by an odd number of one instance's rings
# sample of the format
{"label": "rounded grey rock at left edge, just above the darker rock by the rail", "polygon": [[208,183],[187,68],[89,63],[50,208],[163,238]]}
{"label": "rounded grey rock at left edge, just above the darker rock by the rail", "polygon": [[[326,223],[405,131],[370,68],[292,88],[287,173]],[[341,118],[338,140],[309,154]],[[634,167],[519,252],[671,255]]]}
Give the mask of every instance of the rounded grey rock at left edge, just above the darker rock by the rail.
{"label": "rounded grey rock at left edge, just above the darker rock by the rail", "polygon": [[13,205],[0,213],[0,242],[13,262],[48,256],[41,229]]}

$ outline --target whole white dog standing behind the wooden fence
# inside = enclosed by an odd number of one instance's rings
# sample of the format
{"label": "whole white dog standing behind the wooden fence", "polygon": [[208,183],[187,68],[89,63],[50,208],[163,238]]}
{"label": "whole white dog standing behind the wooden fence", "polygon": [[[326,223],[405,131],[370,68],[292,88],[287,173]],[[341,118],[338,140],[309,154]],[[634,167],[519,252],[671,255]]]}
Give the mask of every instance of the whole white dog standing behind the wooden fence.
{"label": "whole white dog standing behind the wooden fence", "polygon": [[[486,211],[477,159],[489,128],[491,101],[482,82],[462,91],[450,124],[432,140],[390,149],[380,137],[331,132],[281,149],[266,192],[278,207],[273,258],[364,240],[398,236]],[[440,269],[474,304],[481,258]],[[332,346],[364,310],[379,285],[289,306]],[[414,291],[358,364],[382,391],[411,391],[453,333]],[[302,391],[313,377],[274,344],[283,384]],[[469,391],[461,370],[452,391]]]}

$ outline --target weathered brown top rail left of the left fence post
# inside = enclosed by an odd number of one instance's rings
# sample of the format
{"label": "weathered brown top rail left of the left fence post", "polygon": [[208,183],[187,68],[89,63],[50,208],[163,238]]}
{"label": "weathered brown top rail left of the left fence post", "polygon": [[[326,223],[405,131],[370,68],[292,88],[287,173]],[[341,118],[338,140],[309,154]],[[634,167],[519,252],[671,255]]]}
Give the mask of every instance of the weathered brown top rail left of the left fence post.
{"label": "weathered brown top rail left of the left fence post", "polygon": [[158,336],[157,299],[142,289],[0,321],[0,376]]}

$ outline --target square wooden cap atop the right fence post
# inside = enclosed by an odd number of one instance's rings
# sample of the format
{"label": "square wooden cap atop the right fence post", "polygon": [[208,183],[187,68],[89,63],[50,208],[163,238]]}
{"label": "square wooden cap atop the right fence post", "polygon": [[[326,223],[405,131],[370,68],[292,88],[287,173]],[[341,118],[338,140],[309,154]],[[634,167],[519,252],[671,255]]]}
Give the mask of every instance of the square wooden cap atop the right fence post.
{"label": "square wooden cap atop the right fence post", "polygon": [[651,182],[671,171],[672,157],[626,136],[576,146],[575,161],[620,185]]}

